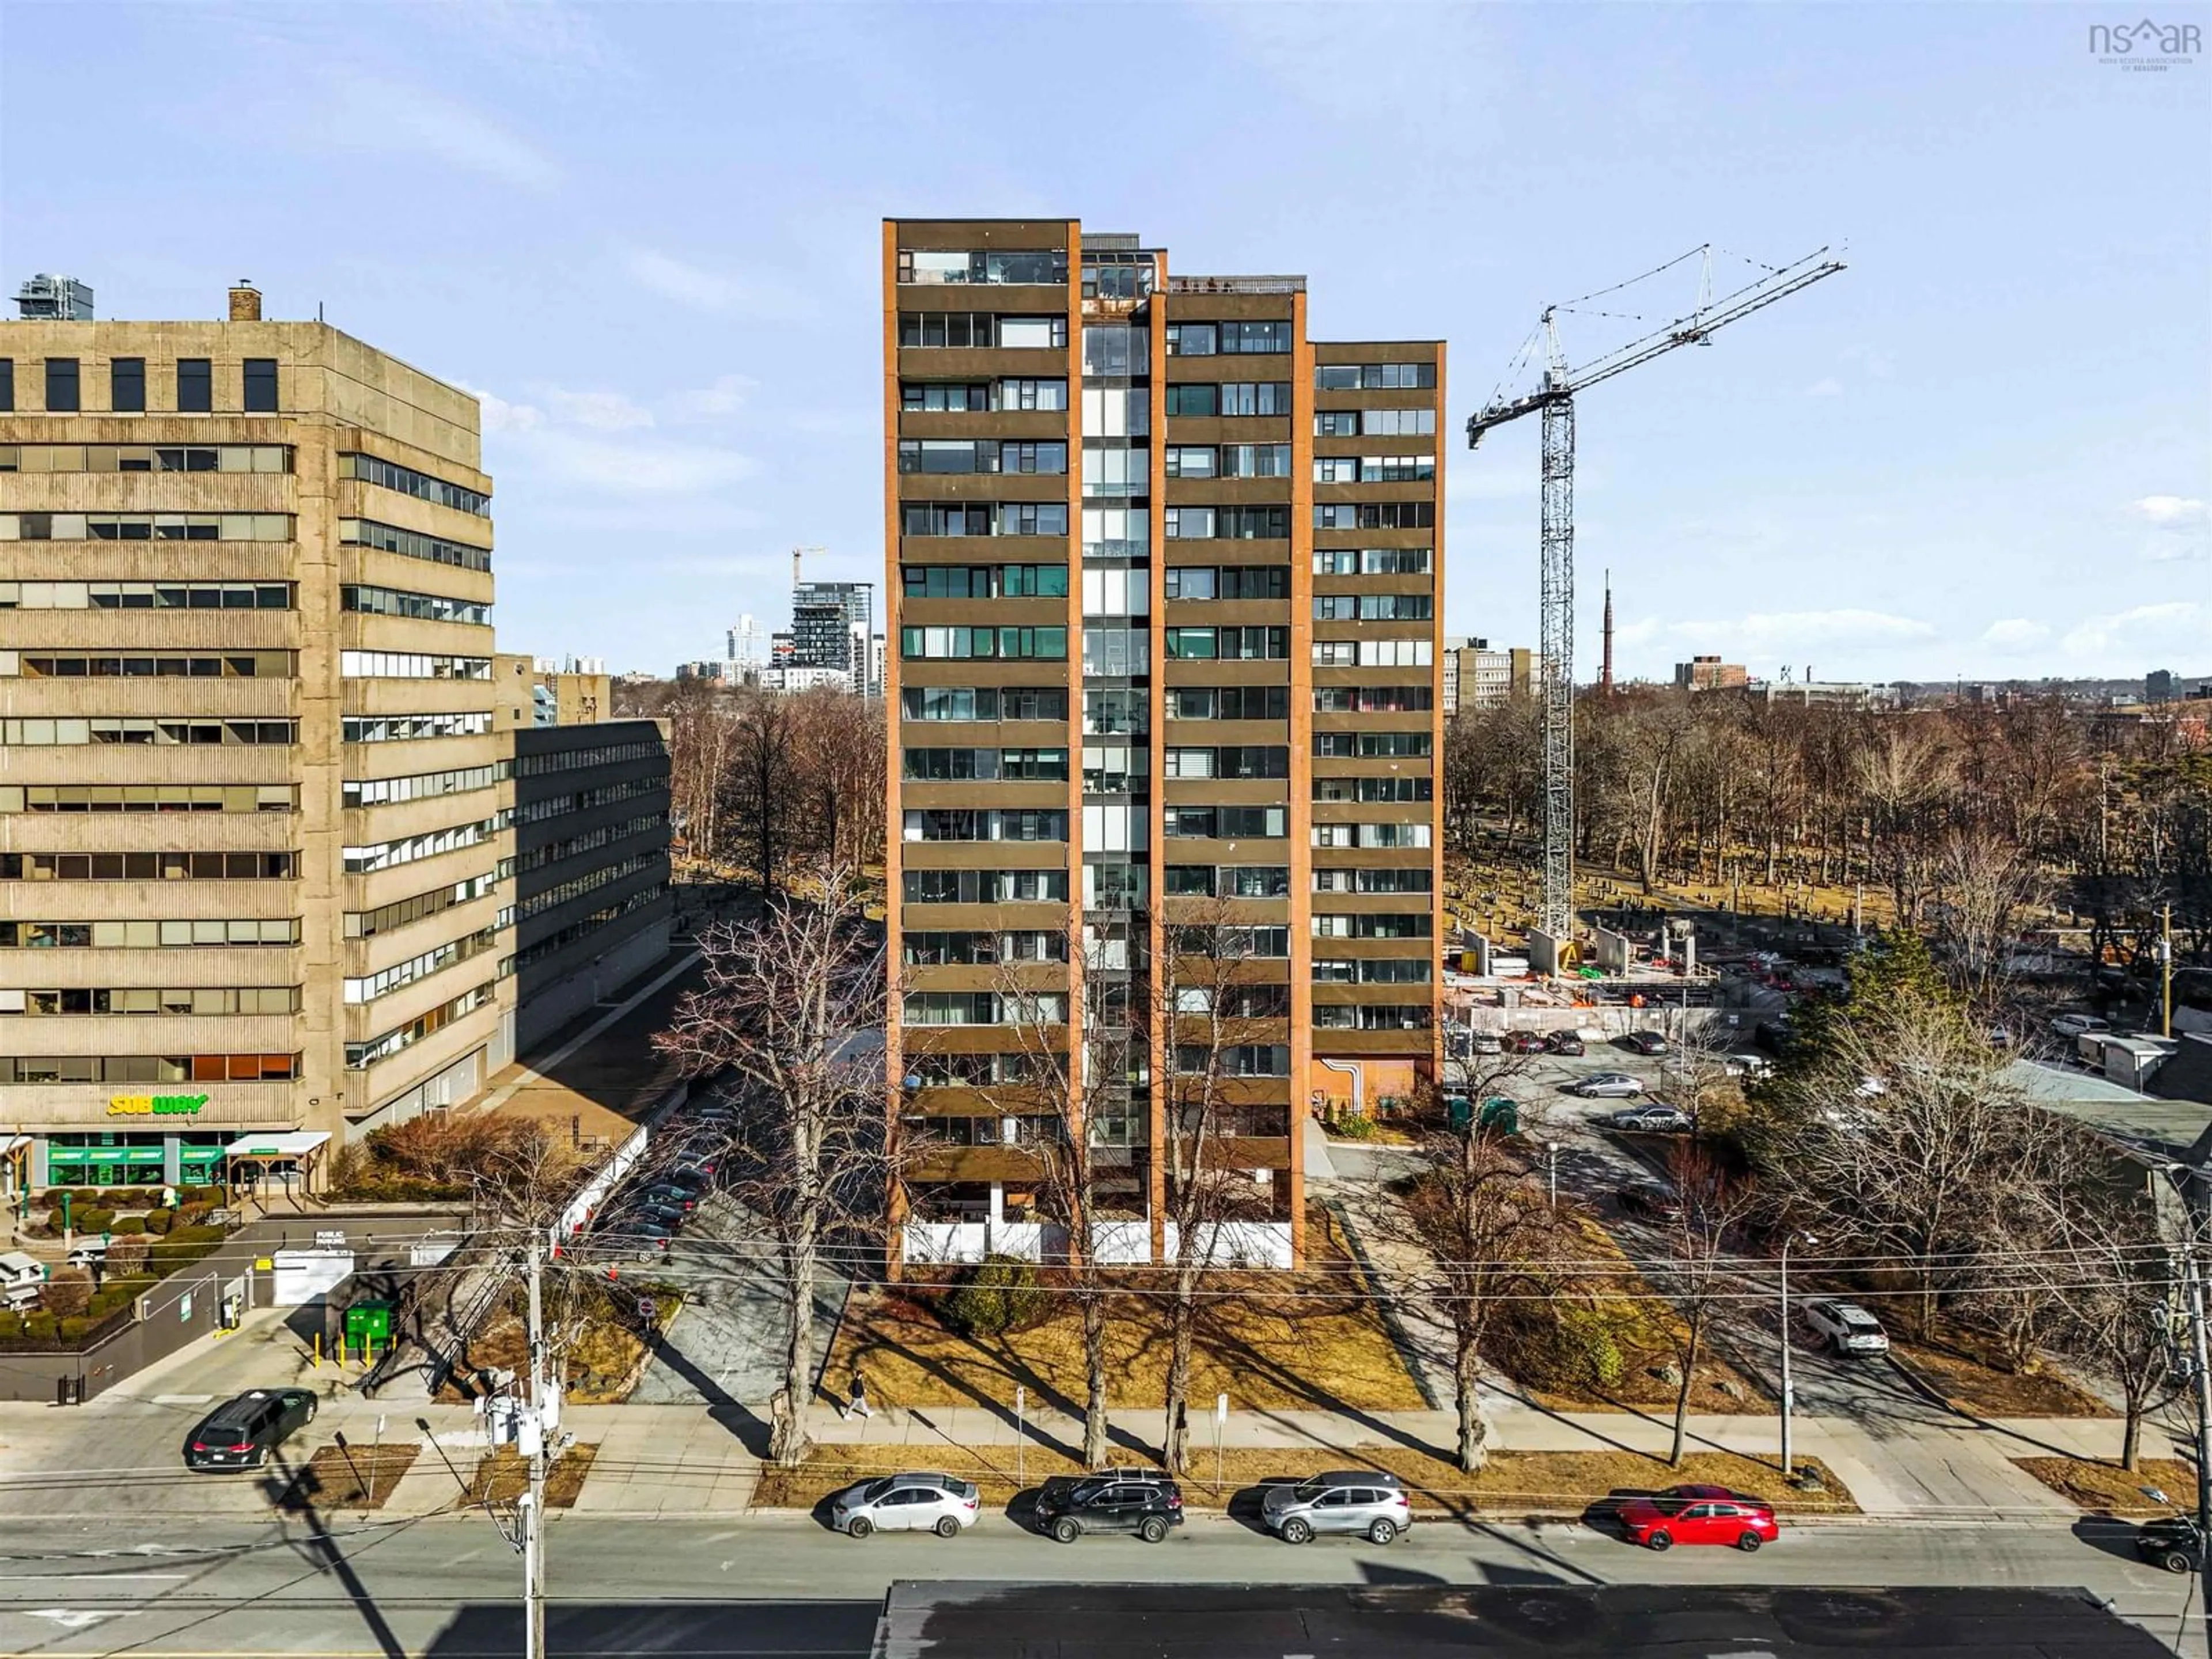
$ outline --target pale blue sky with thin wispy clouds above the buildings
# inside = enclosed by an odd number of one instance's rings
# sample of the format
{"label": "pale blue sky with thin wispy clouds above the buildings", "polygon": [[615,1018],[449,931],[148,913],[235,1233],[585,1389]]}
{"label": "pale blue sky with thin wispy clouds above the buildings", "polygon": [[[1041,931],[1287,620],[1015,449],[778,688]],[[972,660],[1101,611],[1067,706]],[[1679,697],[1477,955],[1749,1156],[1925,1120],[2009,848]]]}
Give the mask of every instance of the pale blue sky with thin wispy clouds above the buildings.
{"label": "pale blue sky with thin wispy clouds above the buildings", "polygon": [[[482,392],[502,644],[666,672],[792,546],[880,582],[885,215],[1305,272],[1316,336],[1449,341],[1453,425],[1546,301],[1849,243],[1584,398],[1584,664],[1610,566],[1626,675],[2208,672],[2212,60],[2099,64],[2115,15],[15,0],[0,276],[243,274]],[[1447,460],[1447,622],[1528,644],[1535,431]]]}

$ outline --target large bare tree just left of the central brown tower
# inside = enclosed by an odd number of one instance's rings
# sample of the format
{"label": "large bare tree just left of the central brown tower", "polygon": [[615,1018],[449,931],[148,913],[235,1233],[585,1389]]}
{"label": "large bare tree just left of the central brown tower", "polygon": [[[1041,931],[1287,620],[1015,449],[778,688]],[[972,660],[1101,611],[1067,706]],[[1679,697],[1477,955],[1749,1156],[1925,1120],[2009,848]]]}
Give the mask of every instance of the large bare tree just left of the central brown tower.
{"label": "large bare tree just left of the central brown tower", "polygon": [[737,1115],[730,1192],[776,1250],[783,1301],[779,1462],[805,1455],[814,1374],[814,1281],[823,1245],[874,1228],[894,1177],[883,1066],[858,1035],[883,1024],[883,947],[869,936],[854,872],[816,872],[818,900],[772,894],[759,920],[701,940],[706,984],[686,991],[655,1046],[684,1062]]}

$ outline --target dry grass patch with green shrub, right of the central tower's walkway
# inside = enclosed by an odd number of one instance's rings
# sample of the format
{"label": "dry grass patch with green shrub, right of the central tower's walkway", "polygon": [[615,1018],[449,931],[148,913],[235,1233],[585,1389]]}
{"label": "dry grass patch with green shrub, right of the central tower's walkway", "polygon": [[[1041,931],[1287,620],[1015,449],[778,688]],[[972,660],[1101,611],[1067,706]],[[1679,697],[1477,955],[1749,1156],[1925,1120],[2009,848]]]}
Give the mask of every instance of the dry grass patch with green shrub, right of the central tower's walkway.
{"label": "dry grass patch with green shrub, right of the central tower's walkway", "polygon": [[[1674,1340],[1681,1329],[1670,1303],[1652,1294],[1650,1283],[1601,1225],[1582,1219],[1568,1245],[1584,1261],[1610,1272],[1575,1274],[1562,1281],[1559,1303],[1586,1310],[1613,1338],[1619,1354],[1619,1378],[1606,1383],[1593,1371],[1575,1374],[1557,1363],[1531,1363],[1522,1336],[1511,1325],[1498,1327],[1489,1343],[1489,1360],[1515,1378],[1522,1394],[1553,1411],[1644,1411],[1674,1413],[1679,1385],[1657,1376],[1674,1365]],[[1535,1316],[1555,1318],[1559,1303],[1537,1303]],[[1690,1411],[1717,1416],[1765,1416],[1774,1400],[1714,1352],[1714,1332],[1725,1334],[1728,1310],[1708,1316],[1705,1340],[1699,1345],[1697,1376],[1690,1385]]]}

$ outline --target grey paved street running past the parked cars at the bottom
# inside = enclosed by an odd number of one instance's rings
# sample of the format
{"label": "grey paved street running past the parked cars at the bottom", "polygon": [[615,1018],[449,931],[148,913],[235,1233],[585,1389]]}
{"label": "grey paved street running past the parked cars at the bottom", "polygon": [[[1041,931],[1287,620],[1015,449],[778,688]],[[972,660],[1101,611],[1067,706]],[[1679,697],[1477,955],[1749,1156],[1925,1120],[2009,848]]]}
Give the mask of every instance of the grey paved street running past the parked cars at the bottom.
{"label": "grey paved street running past the parked cars at the bottom", "polygon": [[[854,1544],[805,1520],[734,1526],[557,1517],[549,1537],[555,1655],[867,1652],[891,1579],[1188,1584],[1958,1584],[2086,1588],[2172,1641],[2185,1579],[2121,1555],[2115,1528],[1801,1526],[1756,1557],[1632,1551],[1579,1526],[1422,1524],[1389,1546],[1292,1551],[1199,1517],[1166,1544],[1035,1537],[1002,1515],[971,1535]],[[208,1522],[190,1535],[115,1522],[0,1522],[0,1659],[511,1655],[520,1564],[484,1517],[314,1535]],[[2201,1626],[2179,1652],[2205,1652]]]}

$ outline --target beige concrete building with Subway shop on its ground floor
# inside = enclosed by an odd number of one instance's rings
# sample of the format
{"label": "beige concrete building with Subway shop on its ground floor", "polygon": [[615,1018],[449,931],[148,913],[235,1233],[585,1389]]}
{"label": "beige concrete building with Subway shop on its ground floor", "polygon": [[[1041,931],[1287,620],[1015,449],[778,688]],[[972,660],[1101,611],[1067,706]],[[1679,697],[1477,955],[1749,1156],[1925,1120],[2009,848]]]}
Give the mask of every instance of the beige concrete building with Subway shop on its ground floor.
{"label": "beige concrete building with Subway shop on its ground floor", "polygon": [[[312,1181],[513,1053],[531,681],[493,672],[480,460],[473,396],[250,288],[0,323],[0,1183],[221,1179],[243,1135]],[[595,874],[666,849],[666,765],[586,812],[639,770],[608,743],[520,785],[573,843],[524,860],[540,931],[666,885]],[[577,938],[533,973],[613,949]]]}

